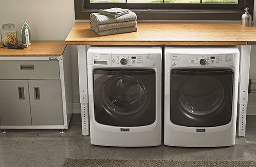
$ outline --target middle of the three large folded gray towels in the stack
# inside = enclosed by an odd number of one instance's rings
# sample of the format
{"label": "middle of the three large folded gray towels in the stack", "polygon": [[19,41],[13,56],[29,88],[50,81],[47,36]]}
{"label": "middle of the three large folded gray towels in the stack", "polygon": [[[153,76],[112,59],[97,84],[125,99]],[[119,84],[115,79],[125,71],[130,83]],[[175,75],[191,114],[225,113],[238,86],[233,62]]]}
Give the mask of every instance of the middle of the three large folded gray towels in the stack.
{"label": "middle of the three large folded gray towels in the stack", "polygon": [[94,27],[98,31],[104,31],[104,30],[114,29],[114,28],[134,27],[136,25],[137,25],[137,21],[135,21],[135,20],[118,22],[118,23],[102,24],[102,25],[97,25],[92,20],[90,20],[90,26]]}

